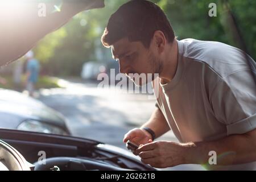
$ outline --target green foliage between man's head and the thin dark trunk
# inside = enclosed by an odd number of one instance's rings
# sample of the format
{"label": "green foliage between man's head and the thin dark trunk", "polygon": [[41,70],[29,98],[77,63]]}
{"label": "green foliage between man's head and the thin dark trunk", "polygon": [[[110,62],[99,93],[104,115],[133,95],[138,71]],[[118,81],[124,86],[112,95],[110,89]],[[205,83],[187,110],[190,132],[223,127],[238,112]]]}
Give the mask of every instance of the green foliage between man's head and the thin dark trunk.
{"label": "green foliage between man's head and the thin dark trunk", "polygon": [[222,42],[228,42],[220,24],[219,12],[217,17],[208,16],[208,5],[211,2],[218,4],[218,1],[162,0],[159,6],[167,14],[178,39],[221,39]]}

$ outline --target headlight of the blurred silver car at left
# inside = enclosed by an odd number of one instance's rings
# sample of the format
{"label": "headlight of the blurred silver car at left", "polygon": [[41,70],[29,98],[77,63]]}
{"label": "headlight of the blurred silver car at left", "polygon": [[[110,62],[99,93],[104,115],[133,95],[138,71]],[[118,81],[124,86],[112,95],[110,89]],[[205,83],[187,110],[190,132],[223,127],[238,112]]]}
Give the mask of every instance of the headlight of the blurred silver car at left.
{"label": "headlight of the blurred silver car at left", "polygon": [[68,135],[66,131],[60,127],[53,126],[44,122],[36,120],[27,120],[22,122],[18,126],[18,130],[34,131],[40,133],[57,134],[57,135]]}

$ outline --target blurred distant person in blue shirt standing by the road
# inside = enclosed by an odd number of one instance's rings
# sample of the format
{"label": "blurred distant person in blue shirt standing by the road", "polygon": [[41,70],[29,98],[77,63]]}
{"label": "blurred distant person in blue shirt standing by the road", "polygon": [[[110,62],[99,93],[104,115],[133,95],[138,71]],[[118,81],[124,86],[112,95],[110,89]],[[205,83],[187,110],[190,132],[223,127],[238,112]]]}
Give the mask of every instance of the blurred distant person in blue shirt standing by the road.
{"label": "blurred distant person in blue shirt standing by the road", "polygon": [[28,51],[26,68],[26,89],[31,97],[34,96],[35,84],[38,82],[39,62],[34,58],[34,53]]}

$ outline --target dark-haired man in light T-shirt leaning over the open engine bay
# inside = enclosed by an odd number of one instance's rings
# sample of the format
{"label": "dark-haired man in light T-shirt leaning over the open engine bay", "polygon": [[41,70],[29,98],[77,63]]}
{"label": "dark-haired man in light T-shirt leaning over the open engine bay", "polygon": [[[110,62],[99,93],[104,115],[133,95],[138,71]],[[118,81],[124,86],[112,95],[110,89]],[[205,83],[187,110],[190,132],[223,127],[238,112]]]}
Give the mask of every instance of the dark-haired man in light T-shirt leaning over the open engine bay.
{"label": "dark-haired man in light T-shirt leaning over the open engine bay", "polygon": [[[121,73],[159,74],[155,111],[123,139],[140,145],[133,152],[143,163],[208,164],[216,152],[217,169],[256,168],[256,85],[240,49],[176,40],[163,11],[143,0],[112,14],[102,44],[112,49]],[[170,129],[180,143],[152,142]]]}

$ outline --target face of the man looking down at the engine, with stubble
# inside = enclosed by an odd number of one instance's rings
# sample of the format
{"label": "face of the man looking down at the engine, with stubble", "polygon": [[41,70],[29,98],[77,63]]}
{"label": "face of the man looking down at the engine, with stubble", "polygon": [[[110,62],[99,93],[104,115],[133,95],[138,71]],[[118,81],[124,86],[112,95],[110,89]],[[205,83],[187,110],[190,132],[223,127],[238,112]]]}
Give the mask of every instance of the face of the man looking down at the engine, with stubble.
{"label": "face of the man looking down at the engine, with stubble", "polygon": [[[113,58],[118,60],[119,72],[126,74],[136,85],[141,86],[154,80],[154,73],[159,73],[159,61],[153,46],[146,48],[141,42],[130,42],[123,38],[111,48]],[[148,73],[152,75],[150,79]]]}

